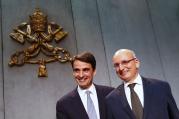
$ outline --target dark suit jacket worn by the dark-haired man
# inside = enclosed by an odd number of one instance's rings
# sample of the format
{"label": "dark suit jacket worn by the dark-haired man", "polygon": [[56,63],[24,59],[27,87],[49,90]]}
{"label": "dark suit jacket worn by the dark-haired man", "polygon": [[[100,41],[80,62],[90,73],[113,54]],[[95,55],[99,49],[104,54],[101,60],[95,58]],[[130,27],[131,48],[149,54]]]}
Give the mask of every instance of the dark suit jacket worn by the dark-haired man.
{"label": "dark suit jacket worn by the dark-haired man", "polygon": [[[113,88],[100,85],[95,85],[95,88],[98,96],[100,119],[106,119],[105,96],[109,94]],[[57,102],[56,116],[57,119],[89,119],[77,92],[77,88]]]}

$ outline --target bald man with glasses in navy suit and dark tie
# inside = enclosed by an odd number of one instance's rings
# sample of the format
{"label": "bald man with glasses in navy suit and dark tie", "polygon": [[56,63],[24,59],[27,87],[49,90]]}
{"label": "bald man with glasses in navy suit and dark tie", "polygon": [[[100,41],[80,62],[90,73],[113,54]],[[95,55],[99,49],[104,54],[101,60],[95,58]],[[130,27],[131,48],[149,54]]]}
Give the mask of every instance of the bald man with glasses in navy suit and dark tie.
{"label": "bald man with glasses in navy suit and dark tie", "polygon": [[106,97],[108,119],[179,119],[169,84],[140,76],[132,50],[120,49],[112,60],[123,84]]}

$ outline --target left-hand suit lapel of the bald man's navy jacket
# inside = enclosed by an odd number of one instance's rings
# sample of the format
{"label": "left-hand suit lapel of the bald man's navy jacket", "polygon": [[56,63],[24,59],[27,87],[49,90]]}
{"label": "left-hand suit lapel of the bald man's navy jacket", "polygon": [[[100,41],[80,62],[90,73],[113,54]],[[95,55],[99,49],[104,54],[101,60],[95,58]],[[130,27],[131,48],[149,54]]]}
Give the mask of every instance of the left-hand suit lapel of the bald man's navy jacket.
{"label": "left-hand suit lapel of the bald man's navy jacket", "polygon": [[125,95],[124,84],[120,85],[117,89],[118,89],[117,91],[118,91],[118,95],[119,95],[119,96],[117,96],[117,97],[118,97],[119,100],[121,101],[122,106],[123,106],[123,108],[124,108],[124,111],[125,111],[126,113],[128,113],[128,115],[129,115],[132,119],[135,119],[134,114],[133,114],[133,112],[132,112],[132,110],[131,110],[131,108],[130,108],[130,106],[129,106],[129,104],[128,104],[128,101],[127,101],[127,98],[126,98],[126,95]]}

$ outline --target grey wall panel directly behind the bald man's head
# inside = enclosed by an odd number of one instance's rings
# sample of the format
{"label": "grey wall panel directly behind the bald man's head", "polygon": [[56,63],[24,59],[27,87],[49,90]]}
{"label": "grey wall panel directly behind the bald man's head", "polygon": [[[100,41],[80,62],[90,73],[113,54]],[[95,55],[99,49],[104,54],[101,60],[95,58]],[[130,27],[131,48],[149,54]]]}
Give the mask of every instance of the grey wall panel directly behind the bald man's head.
{"label": "grey wall panel directly behind the bald man's head", "polygon": [[114,52],[120,48],[136,52],[141,60],[142,75],[163,79],[159,51],[145,0],[97,1],[112,85],[117,86],[120,82],[111,63]]}

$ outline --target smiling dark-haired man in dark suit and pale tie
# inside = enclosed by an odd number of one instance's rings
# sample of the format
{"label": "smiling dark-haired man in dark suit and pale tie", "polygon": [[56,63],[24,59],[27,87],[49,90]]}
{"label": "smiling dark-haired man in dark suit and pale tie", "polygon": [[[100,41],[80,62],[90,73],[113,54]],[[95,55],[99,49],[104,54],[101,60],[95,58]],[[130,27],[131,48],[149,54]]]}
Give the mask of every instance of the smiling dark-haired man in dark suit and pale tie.
{"label": "smiling dark-haired man in dark suit and pale tie", "polygon": [[[83,52],[75,56],[71,64],[78,86],[57,102],[57,119],[106,119],[105,96],[113,88],[93,83],[96,74],[95,57],[89,52]],[[87,92],[90,92],[90,96],[87,96]],[[92,106],[89,100],[92,100]]]}

